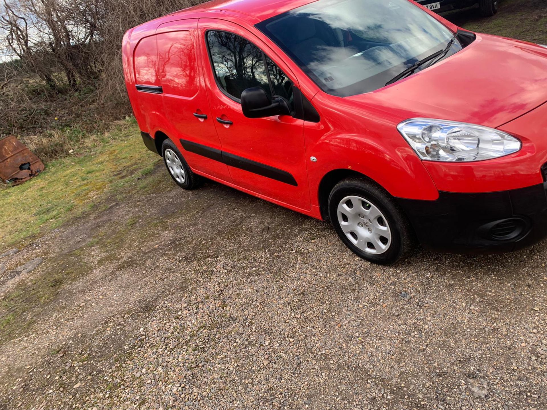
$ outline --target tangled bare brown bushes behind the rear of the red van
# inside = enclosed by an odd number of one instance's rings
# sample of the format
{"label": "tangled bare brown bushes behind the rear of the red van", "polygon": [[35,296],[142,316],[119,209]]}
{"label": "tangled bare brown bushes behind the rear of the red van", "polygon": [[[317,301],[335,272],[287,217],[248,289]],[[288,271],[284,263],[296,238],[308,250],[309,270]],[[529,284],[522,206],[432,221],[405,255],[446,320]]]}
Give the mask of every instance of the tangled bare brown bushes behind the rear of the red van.
{"label": "tangled bare brown bushes behind the rear of the red van", "polygon": [[0,0],[0,133],[28,133],[130,113],[125,31],[200,0]]}

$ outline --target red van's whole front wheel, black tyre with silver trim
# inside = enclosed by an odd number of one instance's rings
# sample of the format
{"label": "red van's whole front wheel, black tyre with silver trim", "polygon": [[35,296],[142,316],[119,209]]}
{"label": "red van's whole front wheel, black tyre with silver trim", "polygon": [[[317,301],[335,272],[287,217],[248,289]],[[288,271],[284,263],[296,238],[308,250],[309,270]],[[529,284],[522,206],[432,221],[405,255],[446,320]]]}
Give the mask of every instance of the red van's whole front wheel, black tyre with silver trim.
{"label": "red van's whole front wheel, black tyre with silver trim", "polygon": [[364,178],[334,186],[329,216],[342,242],[370,262],[395,263],[415,247],[414,232],[393,197]]}

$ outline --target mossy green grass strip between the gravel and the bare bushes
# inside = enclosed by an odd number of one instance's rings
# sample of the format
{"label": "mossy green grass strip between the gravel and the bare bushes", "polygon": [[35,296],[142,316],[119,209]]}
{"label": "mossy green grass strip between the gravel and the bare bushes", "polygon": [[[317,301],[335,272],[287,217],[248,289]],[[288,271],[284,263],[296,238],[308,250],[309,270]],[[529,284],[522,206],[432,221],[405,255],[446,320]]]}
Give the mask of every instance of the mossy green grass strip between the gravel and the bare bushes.
{"label": "mossy green grass strip between the gravel and the bare bushes", "polygon": [[55,229],[106,196],[123,198],[126,189],[148,185],[137,179],[150,174],[160,157],[144,148],[135,124],[126,121],[100,138],[107,143],[47,163],[38,177],[0,189],[0,249]]}

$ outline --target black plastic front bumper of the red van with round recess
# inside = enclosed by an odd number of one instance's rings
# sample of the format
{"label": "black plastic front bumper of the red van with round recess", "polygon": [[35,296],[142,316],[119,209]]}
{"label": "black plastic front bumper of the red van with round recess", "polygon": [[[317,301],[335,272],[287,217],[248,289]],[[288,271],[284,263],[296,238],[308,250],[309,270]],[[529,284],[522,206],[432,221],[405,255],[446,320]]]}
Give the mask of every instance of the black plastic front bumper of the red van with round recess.
{"label": "black plastic front bumper of the red van with round recess", "polygon": [[397,198],[426,249],[488,254],[547,237],[547,183],[484,194],[439,192],[437,201]]}

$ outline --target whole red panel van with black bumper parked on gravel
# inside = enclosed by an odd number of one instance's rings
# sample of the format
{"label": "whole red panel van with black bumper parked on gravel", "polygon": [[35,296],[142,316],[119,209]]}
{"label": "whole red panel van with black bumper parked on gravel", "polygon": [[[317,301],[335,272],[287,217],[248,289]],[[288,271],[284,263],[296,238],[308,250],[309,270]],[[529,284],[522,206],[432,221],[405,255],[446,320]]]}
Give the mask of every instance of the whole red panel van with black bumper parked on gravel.
{"label": "whole red panel van with black bumper parked on gravel", "polygon": [[144,144],[330,220],[357,255],[521,249],[547,235],[547,48],[411,0],[216,0],[129,30]]}

